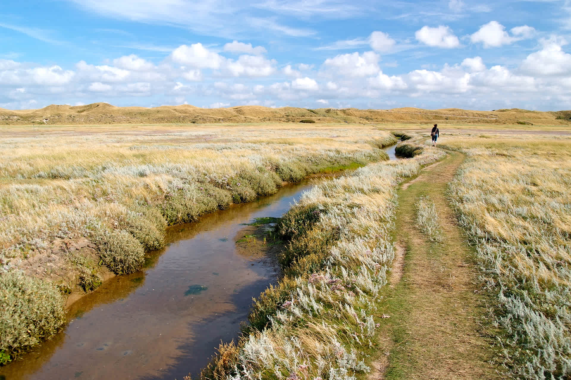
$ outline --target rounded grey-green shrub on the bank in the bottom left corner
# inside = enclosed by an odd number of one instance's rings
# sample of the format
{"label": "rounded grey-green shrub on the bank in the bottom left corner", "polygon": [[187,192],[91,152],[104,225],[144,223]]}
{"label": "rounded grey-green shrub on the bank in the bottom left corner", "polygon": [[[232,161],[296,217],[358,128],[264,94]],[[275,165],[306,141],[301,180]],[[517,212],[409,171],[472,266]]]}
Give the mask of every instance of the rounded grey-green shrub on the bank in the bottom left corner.
{"label": "rounded grey-green shrub on the bank in the bottom left corner", "polygon": [[63,303],[54,284],[0,269],[0,365],[58,332]]}

